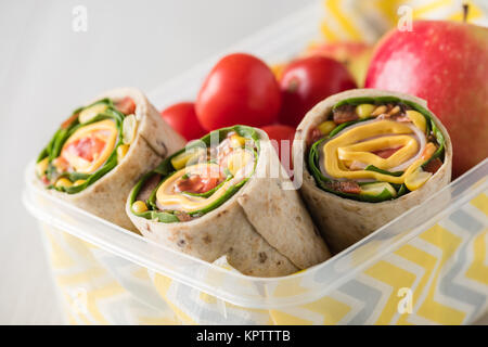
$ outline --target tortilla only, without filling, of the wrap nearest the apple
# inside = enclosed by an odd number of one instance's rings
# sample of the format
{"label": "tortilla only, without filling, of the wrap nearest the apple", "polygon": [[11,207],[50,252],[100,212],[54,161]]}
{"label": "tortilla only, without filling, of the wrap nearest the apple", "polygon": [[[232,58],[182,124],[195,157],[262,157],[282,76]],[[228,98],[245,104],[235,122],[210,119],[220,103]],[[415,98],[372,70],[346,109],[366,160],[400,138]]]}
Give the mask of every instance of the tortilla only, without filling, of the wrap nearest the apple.
{"label": "tortilla only, without filling, of the wrap nearest the apple", "polygon": [[[294,158],[307,157],[307,149],[304,145],[307,134],[311,128],[325,120],[326,115],[330,114],[336,103],[359,97],[397,97],[427,108],[427,103],[422,99],[376,89],[355,89],[332,95],[310,110],[299,124],[293,144]],[[316,224],[334,253],[347,248],[449,184],[451,180],[452,144],[446,128],[435,115],[433,118],[446,141],[444,164],[422,188],[396,200],[365,203],[343,198],[318,188],[304,160],[295,163],[295,167],[301,165],[304,170],[300,194]]]}

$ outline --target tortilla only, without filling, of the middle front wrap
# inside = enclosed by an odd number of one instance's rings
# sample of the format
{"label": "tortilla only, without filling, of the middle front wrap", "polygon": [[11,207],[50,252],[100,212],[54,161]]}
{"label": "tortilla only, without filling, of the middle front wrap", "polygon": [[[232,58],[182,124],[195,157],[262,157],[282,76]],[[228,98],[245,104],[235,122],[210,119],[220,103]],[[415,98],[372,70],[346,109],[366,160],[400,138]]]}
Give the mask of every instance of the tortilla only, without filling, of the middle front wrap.
{"label": "tortilla only, without filling, of the middle front wrap", "polygon": [[[213,262],[227,255],[244,274],[280,277],[324,261],[330,252],[290,182],[268,136],[257,130],[260,153],[253,177],[220,207],[184,222],[164,223],[126,210],[157,243]],[[270,175],[279,166],[280,175]]]}

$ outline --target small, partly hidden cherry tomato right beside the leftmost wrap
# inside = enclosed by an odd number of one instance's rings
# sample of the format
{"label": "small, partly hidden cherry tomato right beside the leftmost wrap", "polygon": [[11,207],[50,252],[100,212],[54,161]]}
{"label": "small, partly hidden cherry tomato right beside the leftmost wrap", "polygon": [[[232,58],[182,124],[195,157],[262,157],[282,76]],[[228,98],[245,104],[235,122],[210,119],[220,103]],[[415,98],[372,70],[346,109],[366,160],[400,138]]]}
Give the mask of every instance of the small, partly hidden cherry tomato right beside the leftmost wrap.
{"label": "small, partly hidden cherry tomato right beside the leftmost wrap", "polygon": [[180,102],[160,112],[172,129],[178,131],[188,141],[202,138],[207,131],[200,125],[196,118],[195,104]]}

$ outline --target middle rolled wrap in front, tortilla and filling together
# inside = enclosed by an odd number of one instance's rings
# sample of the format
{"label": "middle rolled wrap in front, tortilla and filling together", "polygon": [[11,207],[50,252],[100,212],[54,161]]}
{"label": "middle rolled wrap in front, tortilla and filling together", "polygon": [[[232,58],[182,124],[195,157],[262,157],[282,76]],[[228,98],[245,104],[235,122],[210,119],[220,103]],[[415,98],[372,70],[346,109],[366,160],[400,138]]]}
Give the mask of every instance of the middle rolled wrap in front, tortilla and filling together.
{"label": "middle rolled wrap in front, tortilla and filling together", "polygon": [[[277,167],[281,175],[271,175]],[[330,253],[297,191],[284,183],[291,182],[268,136],[234,126],[191,142],[146,174],[126,209],[157,243],[210,262],[227,255],[244,274],[286,275]]]}

